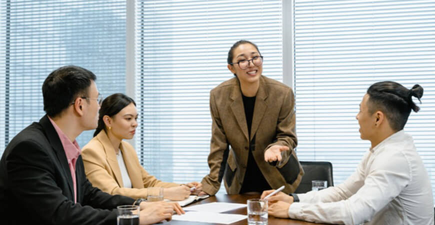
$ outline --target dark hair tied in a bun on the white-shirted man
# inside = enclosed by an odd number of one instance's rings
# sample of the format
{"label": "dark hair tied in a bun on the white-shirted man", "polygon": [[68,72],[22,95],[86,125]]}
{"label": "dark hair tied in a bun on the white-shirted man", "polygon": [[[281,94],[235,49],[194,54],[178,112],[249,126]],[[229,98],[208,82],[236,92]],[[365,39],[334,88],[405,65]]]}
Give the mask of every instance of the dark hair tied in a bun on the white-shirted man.
{"label": "dark hair tied in a bun on the white-shirted man", "polygon": [[380,110],[385,113],[391,128],[395,131],[403,129],[408,120],[411,109],[417,112],[420,108],[412,101],[417,97],[421,103],[423,87],[418,84],[408,89],[394,81],[381,81],[373,83],[367,89],[368,111],[374,113]]}

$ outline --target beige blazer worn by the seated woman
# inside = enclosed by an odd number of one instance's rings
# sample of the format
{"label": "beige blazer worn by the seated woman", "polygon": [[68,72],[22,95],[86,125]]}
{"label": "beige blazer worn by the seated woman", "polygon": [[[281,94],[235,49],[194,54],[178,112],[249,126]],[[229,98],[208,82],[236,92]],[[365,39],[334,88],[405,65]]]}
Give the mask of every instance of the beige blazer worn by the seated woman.
{"label": "beige blazer worn by the seated woman", "polygon": [[86,177],[93,186],[110,194],[140,198],[147,196],[146,187],[179,185],[177,183],[162,182],[155,176],[148,174],[140,165],[133,146],[126,141],[121,141],[120,150],[133,188],[123,187],[115,149],[113,149],[104,130],[101,130],[81,149]]}

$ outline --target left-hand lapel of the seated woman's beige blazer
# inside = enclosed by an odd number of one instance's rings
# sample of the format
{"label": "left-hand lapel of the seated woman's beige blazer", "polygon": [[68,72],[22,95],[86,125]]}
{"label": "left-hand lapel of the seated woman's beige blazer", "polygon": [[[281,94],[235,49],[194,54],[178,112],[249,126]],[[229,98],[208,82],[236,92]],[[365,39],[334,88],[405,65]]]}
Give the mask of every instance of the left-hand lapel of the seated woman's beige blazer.
{"label": "left-hand lapel of the seated woman's beige blazer", "polygon": [[113,174],[115,175],[116,182],[120,187],[123,187],[124,183],[122,182],[121,169],[119,168],[118,160],[116,159],[115,149],[113,149],[110,139],[108,138],[104,130],[101,130],[101,132],[96,135],[96,138],[101,142],[104,148],[105,154],[107,155],[107,162]]}

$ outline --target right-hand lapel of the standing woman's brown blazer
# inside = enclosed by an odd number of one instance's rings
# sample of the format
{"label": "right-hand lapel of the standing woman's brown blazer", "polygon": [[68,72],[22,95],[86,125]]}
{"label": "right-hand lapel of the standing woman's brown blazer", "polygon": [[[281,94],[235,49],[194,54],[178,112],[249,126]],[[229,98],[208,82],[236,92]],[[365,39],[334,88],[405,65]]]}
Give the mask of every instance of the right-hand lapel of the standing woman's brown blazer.
{"label": "right-hand lapel of the standing woman's brown blazer", "polygon": [[249,140],[251,140],[252,137],[255,135],[255,132],[257,131],[258,126],[260,125],[261,119],[263,118],[264,112],[267,109],[267,103],[265,99],[267,98],[268,93],[267,90],[265,89],[265,83],[262,76],[260,77],[260,85],[258,87],[258,91],[255,96],[256,96],[255,105],[254,105],[254,111],[252,115],[252,124],[250,128]]}

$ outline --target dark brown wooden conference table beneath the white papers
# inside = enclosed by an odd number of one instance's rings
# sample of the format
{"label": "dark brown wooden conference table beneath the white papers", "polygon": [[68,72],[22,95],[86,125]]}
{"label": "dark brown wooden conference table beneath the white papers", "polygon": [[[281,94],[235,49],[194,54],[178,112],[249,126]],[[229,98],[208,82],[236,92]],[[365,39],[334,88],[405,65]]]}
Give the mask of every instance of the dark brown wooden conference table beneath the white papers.
{"label": "dark brown wooden conference table beneath the white papers", "polygon": [[[208,198],[202,199],[200,201],[197,201],[195,203],[189,204],[196,205],[196,204],[205,204],[210,202],[233,202],[233,203],[246,203],[247,199],[250,198],[259,198],[260,195],[254,194],[254,195],[248,195],[248,194],[217,194],[215,196],[210,196]],[[235,214],[243,214],[246,215],[246,207],[238,208],[230,211],[225,211],[224,213],[235,213]],[[219,223],[206,223],[206,222],[191,222],[191,221],[180,221],[180,220],[171,220],[169,222],[165,222],[166,224],[174,224],[174,225],[210,225],[210,224],[219,224]],[[306,222],[301,220],[295,220],[295,219],[288,219],[288,218],[276,218],[274,216],[269,215],[268,216],[268,225],[309,225],[309,224],[324,224],[324,223],[314,223],[314,222]],[[247,219],[242,219],[237,222],[231,223],[231,225],[242,225],[247,224]]]}

